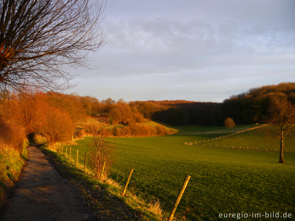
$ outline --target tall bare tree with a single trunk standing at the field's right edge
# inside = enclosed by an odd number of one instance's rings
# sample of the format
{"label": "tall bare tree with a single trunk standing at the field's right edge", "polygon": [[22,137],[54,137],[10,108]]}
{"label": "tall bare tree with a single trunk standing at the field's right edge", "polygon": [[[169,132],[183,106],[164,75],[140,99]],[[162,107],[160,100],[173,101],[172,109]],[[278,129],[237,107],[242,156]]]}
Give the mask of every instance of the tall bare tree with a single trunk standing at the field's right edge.
{"label": "tall bare tree with a single trunk standing at the field's right edge", "polygon": [[291,136],[290,133],[286,133],[295,128],[295,106],[292,105],[286,98],[273,97],[271,105],[268,110],[269,117],[268,123],[271,125],[279,126],[278,130],[270,130],[272,133],[280,136],[280,158],[279,163],[286,163],[283,159],[284,138],[286,135]]}

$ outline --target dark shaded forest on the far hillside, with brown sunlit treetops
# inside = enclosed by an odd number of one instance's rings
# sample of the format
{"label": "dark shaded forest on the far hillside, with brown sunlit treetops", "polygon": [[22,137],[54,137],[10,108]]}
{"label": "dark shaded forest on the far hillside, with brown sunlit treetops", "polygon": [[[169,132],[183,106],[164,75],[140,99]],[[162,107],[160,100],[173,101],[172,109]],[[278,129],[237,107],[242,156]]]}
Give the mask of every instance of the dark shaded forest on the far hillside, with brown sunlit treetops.
{"label": "dark shaded forest on the far hillside, with brown sunlit treetops", "polygon": [[273,96],[295,103],[295,83],[281,83],[251,88],[232,95],[222,103],[186,100],[134,101],[134,106],[147,119],[171,125],[222,125],[225,118],[237,124],[264,123]]}

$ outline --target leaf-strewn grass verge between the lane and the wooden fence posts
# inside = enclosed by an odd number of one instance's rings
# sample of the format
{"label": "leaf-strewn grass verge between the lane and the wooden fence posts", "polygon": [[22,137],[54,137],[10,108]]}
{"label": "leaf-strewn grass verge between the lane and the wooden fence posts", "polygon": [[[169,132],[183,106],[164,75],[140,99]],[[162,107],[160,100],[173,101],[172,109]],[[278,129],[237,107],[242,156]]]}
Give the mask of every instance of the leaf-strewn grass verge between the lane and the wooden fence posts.
{"label": "leaf-strewn grass verge between the lane and the wooden fence posts", "polygon": [[41,149],[57,164],[61,174],[78,189],[82,199],[91,207],[98,220],[142,220],[140,207],[130,208],[119,195],[119,187],[90,177],[57,152],[50,151],[44,146]]}

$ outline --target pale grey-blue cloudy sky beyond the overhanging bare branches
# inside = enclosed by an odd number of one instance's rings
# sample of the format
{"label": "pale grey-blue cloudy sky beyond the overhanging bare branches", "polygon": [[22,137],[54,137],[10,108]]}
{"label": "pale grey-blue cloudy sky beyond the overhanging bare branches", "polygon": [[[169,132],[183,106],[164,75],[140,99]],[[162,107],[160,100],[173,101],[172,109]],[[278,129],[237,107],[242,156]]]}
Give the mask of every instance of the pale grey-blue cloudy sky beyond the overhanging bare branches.
{"label": "pale grey-blue cloudy sky beyond the overhanging bare branches", "polygon": [[107,43],[66,93],[222,102],[295,82],[294,11],[294,0],[108,0]]}

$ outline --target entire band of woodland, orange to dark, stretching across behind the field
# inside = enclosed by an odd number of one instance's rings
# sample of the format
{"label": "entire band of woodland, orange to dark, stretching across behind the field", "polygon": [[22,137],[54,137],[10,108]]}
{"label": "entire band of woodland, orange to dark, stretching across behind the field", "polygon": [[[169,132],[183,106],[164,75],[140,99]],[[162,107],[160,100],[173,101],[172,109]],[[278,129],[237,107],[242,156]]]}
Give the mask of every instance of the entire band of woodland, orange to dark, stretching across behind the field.
{"label": "entire band of woodland, orange to dark, stretching across behind the field", "polygon": [[[104,117],[107,125],[117,125],[104,128],[109,136],[169,133],[165,127],[145,125],[145,119],[171,125],[222,125],[228,117],[237,124],[264,123],[273,96],[295,103],[295,83],[252,88],[245,93],[232,95],[222,103],[186,100],[127,103],[122,99],[116,102],[112,98],[99,101],[95,97],[75,93],[5,93],[0,97],[0,133],[12,130],[22,136],[41,133],[54,145],[58,141],[71,139],[77,133],[75,126],[89,117]],[[91,129],[86,128],[86,132],[90,133]],[[9,136],[0,135],[1,139],[9,139]]]}

